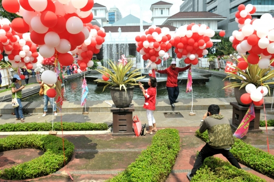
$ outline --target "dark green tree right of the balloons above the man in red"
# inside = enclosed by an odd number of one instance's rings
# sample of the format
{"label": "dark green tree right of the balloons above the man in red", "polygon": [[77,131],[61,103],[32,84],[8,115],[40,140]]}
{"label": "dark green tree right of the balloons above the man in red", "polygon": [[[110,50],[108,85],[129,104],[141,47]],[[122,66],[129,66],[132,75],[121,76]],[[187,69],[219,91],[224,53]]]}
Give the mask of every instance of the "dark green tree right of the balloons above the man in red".
{"label": "dark green tree right of the balloons above the man in red", "polygon": [[216,49],[216,56],[229,55],[235,52],[228,37],[220,37],[219,34],[215,34],[211,39],[221,40],[221,42],[213,43],[213,46],[208,48],[209,54],[214,54],[214,48]]}

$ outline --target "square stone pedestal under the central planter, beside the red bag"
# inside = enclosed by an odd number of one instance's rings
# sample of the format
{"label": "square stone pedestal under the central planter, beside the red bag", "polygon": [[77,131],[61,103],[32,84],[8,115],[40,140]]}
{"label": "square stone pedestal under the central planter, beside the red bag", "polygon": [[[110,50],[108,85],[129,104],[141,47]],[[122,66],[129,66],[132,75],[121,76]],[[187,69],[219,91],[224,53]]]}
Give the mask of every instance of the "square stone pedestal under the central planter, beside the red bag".
{"label": "square stone pedestal under the central planter, beside the red bag", "polygon": [[112,135],[134,135],[132,129],[132,112],[134,110],[133,104],[125,108],[117,108],[113,105],[111,108],[113,116]]}

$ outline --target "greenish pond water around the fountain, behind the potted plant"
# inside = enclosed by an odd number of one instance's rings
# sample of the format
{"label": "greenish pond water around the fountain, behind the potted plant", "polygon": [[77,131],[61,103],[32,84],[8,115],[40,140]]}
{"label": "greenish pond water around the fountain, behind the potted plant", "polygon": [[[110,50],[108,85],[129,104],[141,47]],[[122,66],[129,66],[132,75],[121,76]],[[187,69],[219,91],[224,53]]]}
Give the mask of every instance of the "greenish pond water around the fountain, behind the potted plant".
{"label": "greenish pond water around the fountain, behind the potted plant", "polygon": [[[234,97],[233,89],[222,89],[230,83],[229,80],[224,80],[221,77],[212,76],[210,82],[202,85],[192,85],[193,98],[224,98]],[[81,78],[65,83],[65,88],[62,88],[63,100],[79,101],[82,95],[82,80]],[[109,87],[102,92],[103,86],[98,86],[88,83],[88,99],[87,100],[111,100]],[[180,94],[178,99],[192,98],[191,93],[186,93],[186,85],[179,85]],[[167,99],[166,87],[157,88],[157,99]],[[144,99],[143,93],[138,88],[134,89],[133,100]],[[23,99],[23,101],[42,101],[43,97],[34,95]]]}

